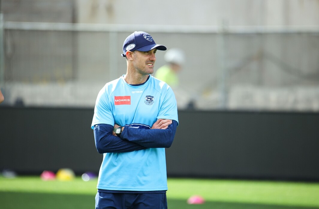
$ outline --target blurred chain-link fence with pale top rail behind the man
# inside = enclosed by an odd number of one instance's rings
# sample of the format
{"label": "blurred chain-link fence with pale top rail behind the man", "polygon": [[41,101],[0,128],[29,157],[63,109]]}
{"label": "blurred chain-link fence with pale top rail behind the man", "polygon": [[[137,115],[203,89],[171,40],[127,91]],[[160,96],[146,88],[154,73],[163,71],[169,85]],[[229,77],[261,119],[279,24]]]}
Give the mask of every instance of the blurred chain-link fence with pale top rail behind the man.
{"label": "blurred chain-link fence with pale top rail behind the man", "polygon": [[103,85],[126,73],[124,39],[142,30],[185,51],[180,109],[319,111],[318,28],[2,25],[5,105],[94,107]]}

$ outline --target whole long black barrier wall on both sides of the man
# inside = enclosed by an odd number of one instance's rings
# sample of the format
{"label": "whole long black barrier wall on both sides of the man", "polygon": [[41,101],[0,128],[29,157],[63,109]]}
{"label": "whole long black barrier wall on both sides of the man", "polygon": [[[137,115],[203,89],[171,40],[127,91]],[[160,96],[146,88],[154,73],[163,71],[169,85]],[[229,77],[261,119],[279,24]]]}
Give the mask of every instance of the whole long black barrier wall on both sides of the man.
{"label": "whole long black barrier wall on both sides of the man", "polygon": [[[170,177],[319,180],[319,113],[179,111]],[[0,107],[0,170],[98,172],[93,109]]]}

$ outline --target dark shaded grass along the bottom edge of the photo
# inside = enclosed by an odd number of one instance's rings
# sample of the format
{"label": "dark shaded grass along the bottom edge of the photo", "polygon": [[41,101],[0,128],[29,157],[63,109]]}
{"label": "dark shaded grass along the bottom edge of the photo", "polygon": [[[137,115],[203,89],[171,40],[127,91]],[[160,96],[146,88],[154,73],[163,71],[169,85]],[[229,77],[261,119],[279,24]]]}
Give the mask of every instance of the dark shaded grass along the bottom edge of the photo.
{"label": "dark shaded grass along the bottom edge of the photo", "polygon": [[[312,209],[318,207],[273,206],[228,202],[205,202],[188,205],[186,200],[167,199],[169,209]],[[3,209],[89,209],[94,208],[95,194],[56,194],[28,192],[0,192],[0,208]]]}

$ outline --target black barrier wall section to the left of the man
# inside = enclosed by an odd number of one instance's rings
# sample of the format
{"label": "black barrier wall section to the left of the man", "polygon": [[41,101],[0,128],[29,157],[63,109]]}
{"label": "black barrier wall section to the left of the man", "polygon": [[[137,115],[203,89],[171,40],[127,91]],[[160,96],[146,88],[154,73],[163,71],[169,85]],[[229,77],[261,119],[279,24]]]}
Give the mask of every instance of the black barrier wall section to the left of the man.
{"label": "black barrier wall section to the left of the man", "polygon": [[90,128],[93,109],[0,107],[0,117],[0,170],[99,170],[103,156]]}

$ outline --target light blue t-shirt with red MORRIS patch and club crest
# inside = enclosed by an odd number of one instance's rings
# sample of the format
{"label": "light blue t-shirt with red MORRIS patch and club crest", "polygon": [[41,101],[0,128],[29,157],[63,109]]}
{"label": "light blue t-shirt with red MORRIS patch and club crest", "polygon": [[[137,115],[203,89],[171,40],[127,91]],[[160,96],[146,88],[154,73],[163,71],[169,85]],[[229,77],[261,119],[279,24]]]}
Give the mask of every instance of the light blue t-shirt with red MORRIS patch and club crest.
{"label": "light blue t-shirt with red MORRIS patch and club crest", "polygon": [[[139,86],[127,84],[122,76],[100,90],[91,128],[96,124],[117,124],[126,125],[126,128],[150,129],[159,118],[178,122],[172,89],[153,76]],[[104,153],[97,188],[167,190],[165,148]]]}

